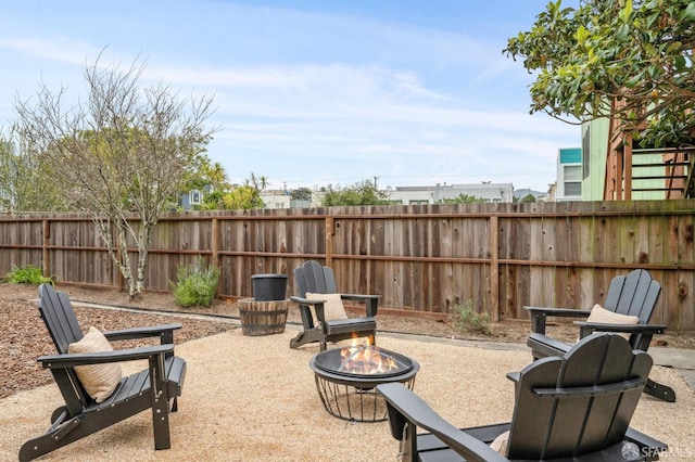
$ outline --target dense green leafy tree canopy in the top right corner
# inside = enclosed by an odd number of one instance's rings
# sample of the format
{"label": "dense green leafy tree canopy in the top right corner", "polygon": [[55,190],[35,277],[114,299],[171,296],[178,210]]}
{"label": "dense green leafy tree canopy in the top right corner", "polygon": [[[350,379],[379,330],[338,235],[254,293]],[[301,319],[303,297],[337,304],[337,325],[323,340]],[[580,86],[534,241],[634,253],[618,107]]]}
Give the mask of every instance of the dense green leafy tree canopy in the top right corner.
{"label": "dense green leafy tree canopy in the top right corner", "polygon": [[615,114],[645,124],[643,145],[695,139],[695,3],[690,0],[552,1],[503,50],[536,75],[531,113],[565,121]]}

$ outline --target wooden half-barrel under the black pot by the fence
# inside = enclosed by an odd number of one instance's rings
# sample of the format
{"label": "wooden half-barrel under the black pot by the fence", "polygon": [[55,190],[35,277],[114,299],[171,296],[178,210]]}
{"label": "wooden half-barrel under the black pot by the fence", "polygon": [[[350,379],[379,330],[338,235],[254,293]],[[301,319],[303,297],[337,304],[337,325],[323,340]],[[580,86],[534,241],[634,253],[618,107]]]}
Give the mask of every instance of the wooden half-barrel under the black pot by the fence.
{"label": "wooden half-barrel under the black pot by the fence", "polygon": [[289,300],[256,301],[253,298],[239,300],[239,318],[243,335],[260,336],[285,332]]}

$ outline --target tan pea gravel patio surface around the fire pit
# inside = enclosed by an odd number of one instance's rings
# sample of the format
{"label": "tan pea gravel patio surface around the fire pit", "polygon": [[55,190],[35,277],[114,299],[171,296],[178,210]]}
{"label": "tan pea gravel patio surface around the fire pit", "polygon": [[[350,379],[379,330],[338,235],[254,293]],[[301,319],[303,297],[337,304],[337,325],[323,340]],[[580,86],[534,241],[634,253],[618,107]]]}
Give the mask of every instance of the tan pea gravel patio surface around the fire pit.
{"label": "tan pea gravel patio surface around the fire pit", "polygon": [[[290,349],[295,331],[249,337],[235,329],[177,345],[188,361],[179,412],[172,414],[172,449],[154,451],[151,414],[142,412],[61,448],[51,461],[395,461],[387,422],[351,423],[331,416],[308,368],[318,345]],[[380,346],[420,363],[415,392],[460,426],[508,421],[513,384],[505,373],[531,360],[517,344],[379,335]],[[125,372],[142,364],[128,364]],[[675,389],[668,403],[643,395],[632,426],[661,439],[673,460],[695,457],[695,396],[673,369],[653,377]],[[62,405],[51,384],[0,400],[0,460],[17,459],[22,444],[46,431]]]}

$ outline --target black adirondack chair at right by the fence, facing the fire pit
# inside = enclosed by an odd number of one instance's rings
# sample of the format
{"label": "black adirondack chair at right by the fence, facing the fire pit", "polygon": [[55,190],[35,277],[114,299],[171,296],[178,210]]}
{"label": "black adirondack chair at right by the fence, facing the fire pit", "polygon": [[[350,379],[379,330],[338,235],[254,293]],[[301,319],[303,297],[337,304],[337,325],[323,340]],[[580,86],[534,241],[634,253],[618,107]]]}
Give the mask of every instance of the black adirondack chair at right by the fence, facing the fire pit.
{"label": "black adirondack chair at right by the fence, facing the fire pit", "polygon": [[[630,334],[632,348],[646,351],[655,334],[662,334],[666,325],[649,324],[654,307],[659,298],[661,285],[652,279],[648,271],[637,269],[627,275],[618,275],[610,281],[604,308],[639,318],[637,324],[605,324],[586,321],[574,321],[579,325],[579,337],[583,338],[593,332],[622,332]],[[523,307],[531,316],[532,333],[527,339],[534,359],[547,356],[565,355],[571,345],[558,342],[545,335],[548,317],[587,318],[591,311],[570,308]],[[644,393],[668,402],[675,401],[673,388],[652,380],[644,387]]]}

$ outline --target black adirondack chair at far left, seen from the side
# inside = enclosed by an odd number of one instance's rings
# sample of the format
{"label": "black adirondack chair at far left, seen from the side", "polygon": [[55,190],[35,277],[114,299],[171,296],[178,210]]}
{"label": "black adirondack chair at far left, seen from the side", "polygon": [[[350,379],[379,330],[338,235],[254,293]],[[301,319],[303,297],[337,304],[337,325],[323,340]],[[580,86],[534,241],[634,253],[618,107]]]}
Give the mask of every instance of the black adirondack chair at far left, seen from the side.
{"label": "black adirondack chair at far left, seen from the side", "polygon": [[[38,361],[50,369],[65,400],[51,415],[51,426],[41,436],[26,441],[20,460],[27,461],[91,435],[116,422],[152,410],[154,448],[170,448],[168,412],[177,410],[186,376],[186,361],[174,356],[174,331],[181,324],[104,332],[111,341],[160,337],[161,345],[94,354],[68,354],[68,345],[83,338],[70,298],[52,285],[39,287],[39,311],[58,355],[41,356]],[[113,394],[97,403],[85,390],[76,365],[146,359],[148,369],[122,378]]]}

